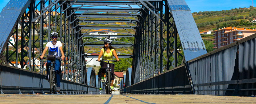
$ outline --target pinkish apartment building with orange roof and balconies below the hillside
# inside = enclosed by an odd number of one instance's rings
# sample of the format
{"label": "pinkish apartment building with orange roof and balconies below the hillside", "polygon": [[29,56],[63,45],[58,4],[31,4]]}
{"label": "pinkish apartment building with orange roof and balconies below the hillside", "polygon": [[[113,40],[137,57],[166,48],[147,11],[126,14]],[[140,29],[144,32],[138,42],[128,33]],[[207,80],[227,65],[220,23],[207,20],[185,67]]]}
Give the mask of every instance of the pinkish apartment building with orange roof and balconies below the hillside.
{"label": "pinkish apartment building with orange roof and balconies below the hillside", "polygon": [[213,31],[213,33],[213,44],[215,45],[213,48],[218,49],[256,33],[256,29],[224,27]]}

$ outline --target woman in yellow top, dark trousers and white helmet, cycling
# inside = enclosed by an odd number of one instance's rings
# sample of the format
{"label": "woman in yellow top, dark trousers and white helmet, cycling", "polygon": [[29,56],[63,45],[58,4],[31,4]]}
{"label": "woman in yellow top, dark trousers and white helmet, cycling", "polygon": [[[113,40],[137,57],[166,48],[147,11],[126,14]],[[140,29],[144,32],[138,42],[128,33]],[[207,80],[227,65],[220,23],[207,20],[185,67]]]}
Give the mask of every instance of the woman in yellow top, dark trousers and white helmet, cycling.
{"label": "woman in yellow top, dark trousers and white helmet, cycling", "polygon": [[[98,61],[100,61],[101,56],[103,55],[102,60],[113,60],[113,55],[115,56],[115,58],[117,59],[117,61],[119,61],[118,57],[117,57],[117,53],[115,51],[115,48],[113,46],[111,46],[112,40],[105,39],[103,40],[104,42],[104,47],[102,47],[100,54],[98,56]],[[111,90],[114,89],[113,87],[113,83],[114,83],[114,64],[112,61],[109,61],[109,66],[111,68]],[[107,67],[107,61],[101,61],[101,68],[103,69],[101,72],[101,81],[104,81],[104,75],[106,73],[106,67]]]}

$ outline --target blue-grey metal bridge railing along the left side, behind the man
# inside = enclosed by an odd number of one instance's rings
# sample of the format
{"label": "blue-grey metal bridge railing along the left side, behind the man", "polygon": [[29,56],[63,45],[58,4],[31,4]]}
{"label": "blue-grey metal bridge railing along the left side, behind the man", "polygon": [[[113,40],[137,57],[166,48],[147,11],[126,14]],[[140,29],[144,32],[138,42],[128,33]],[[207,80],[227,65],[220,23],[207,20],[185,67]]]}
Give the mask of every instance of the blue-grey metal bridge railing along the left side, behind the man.
{"label": "blue-grey metal bridge railing along the left side, behind the man", "polygon": [[[35,94],[49,93],[49,82],[45,74],[25,70],[5,64],[0,64],[0,93],[1,94]],[[95,72],[94,72],[95,73]],[[92,75],[88,75],[92,76]],[[95,77],[95,74],[94,74]],[[88,79],[90,80],[90,79]],[[90,82],[93,82],[91,80]],[[87,86],[69,80],[60,81],[60,93],[63,94],[99,94],[96,86]],[[90,84],[89,85],[95,85]],[[104,93],[105,90],[102,91]]]}

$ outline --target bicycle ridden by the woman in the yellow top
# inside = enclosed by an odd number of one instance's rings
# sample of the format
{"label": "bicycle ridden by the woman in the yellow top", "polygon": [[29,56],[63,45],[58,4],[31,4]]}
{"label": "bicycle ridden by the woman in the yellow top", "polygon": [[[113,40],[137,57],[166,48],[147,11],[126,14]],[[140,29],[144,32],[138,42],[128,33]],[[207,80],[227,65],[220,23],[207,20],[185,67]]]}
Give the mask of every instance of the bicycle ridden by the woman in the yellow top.
{"label": "bicycle ridden by the woman in the yellow top", "polygon": [[[97,60],[96,60],[97,61]],[[101,61],[107,61],[107,67],[106,67],[106,79],[104,80],[104,86],[106,90],[106,94],[111,94],[111,68],[109,67],[109,61],[116,62],[116,60],[101,60]]]}

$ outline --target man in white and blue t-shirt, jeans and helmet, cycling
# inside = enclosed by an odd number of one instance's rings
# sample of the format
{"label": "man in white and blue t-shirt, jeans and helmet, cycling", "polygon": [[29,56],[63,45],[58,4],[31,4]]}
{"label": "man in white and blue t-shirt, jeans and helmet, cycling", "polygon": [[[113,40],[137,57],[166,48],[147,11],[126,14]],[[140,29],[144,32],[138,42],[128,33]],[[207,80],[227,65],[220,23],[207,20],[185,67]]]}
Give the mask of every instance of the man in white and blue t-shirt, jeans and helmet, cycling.
{"label": "man in white and blue t-shirt, jeans and helmet, cycling", "polygon": [[[52,41],[49,41],[46,44],[40,58],[43,59],[44,54],[49,49],[48,55],[53,55],[56,58],[60,58],[60,53],[61,53],[61,59],[64,59],[65,56],[64,56],[64,52],[62,50],[62,44],[61,44],[60,41],[57,41],[58,33],[57,32],[52,32],[50,36],[52,38]],[[46,65],[46,73],[47,74],[46,74],[46,77],[45,77],[46,80],[49,80],[48,79],[48,70],[49,70],[50,65],[51,65],[51,61],[47,60],[47,65]],[[56,59],[55,64],[54,64],[54,70],[55,70],[55,73],[56,73],[56,82],[57,82],[56,91],[60,91],[60,71],[59,71],[59,68],[60,68],[60,59]]]}

